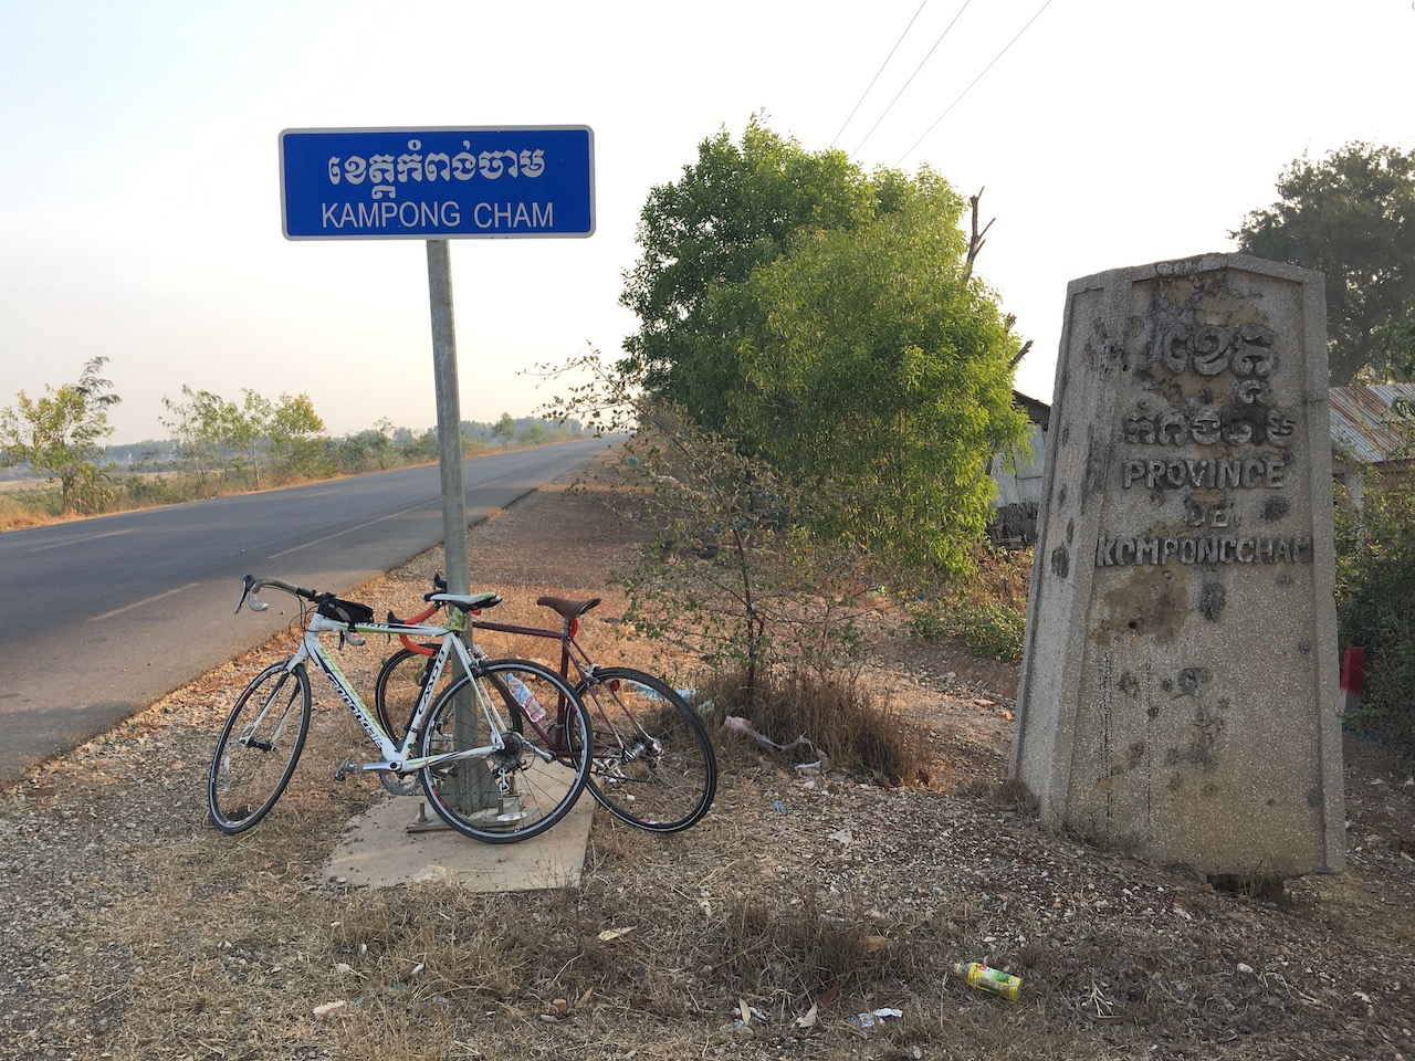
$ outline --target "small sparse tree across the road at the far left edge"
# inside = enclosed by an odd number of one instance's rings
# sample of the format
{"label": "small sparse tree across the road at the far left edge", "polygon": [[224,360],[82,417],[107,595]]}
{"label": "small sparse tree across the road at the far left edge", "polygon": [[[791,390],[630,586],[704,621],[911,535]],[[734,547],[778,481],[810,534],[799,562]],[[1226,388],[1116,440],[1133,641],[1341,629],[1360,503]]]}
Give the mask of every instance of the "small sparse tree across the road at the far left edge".
{"label": "small sparse tree across the road at the far left edge", "polygon": [[38,399],[21,390],[16,406],[0,409],[0,467],[28,464],[58,480],[64,514],[99,511],[108,494],[100,443],[113,433],[108,410],[122,399],[99,376],[106,364],[105,356],[89,358],[76,383],[45,385]]}

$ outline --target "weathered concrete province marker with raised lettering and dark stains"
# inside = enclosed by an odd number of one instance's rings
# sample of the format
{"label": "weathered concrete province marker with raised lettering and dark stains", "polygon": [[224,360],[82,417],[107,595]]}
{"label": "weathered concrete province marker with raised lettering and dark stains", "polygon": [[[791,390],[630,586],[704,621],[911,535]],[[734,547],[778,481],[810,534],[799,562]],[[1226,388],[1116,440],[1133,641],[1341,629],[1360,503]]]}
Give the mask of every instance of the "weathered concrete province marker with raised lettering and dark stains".
{"label": "weathered concrete province marker with raised lettering and dark stains", "polygon": [[1067,291],[1012,775],[1211,876],[1344,862],[1322,276],[1211,255]]}

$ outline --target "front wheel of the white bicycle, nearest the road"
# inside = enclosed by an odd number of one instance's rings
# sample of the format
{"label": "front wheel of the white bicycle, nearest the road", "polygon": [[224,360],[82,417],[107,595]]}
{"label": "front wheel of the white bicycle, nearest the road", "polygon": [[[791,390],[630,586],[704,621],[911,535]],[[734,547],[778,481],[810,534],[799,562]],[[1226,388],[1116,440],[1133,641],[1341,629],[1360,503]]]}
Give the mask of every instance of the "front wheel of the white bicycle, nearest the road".
{"label": "front wheel of the white bicycle, nearest the road", "polygon": [[216,738],[207,806],[224,833],[245,832],[265,818],[300,761],[310,731],[310,675],[304,663],[287,666],[272,663],[250,680]]}

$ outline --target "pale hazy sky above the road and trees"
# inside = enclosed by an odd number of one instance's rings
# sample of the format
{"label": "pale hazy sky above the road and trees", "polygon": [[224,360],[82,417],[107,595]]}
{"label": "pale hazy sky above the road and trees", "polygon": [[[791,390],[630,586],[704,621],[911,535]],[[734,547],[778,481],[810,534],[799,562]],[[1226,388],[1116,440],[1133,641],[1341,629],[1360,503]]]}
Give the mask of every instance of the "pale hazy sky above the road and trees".
{"label": "pale hazy sky above the road and trees", "polygon": [[1050,400],[1068,280],[1232,249],[1305,153],[1415,147],[1412,45],[1412,0],[0,0],[0,406],[103,354],[116,443],[184,383],[429,427],[426,246],[286,240],[280,130],[590,126],[591,238],[451,243],[463,416],[529,414],[525,371],[635,330],[649,187],[757,110],[985,187],[978,272]]}

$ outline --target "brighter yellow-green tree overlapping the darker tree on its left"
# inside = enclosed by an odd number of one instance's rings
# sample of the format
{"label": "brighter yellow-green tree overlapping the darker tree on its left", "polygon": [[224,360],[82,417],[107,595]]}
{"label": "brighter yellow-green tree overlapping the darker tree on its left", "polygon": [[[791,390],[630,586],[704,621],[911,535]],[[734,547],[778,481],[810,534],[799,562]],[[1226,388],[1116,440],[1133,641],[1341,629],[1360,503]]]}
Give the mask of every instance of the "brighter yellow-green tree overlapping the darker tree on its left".
{"label": "brighter yellow-green tree overlapping the darker tree on its left", "polygon": [[983,533],[989,458],[1026,433],[1017,342],[969,276],[965,207],[924,170],[897,209],[802,233],[746,284],[715,289],[746,306],[719,358],[729,433],[791,481],[831,484],[832,529],[859,547],[949,576]]}

